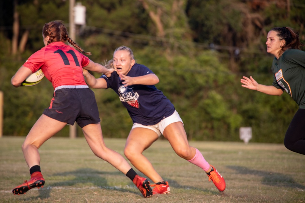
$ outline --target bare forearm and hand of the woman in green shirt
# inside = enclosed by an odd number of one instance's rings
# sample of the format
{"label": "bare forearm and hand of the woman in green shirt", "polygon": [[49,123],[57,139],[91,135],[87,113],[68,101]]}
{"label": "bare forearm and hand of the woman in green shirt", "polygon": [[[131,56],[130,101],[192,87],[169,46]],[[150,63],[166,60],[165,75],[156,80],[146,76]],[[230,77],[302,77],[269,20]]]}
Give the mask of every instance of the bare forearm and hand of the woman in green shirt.
{"label": "bare forearm and hand of the woman in green shirt", "polygon": [[243,84],[242,87],[246,87],[248,89],[253,89],[253,90],[257,90],[259,92],[265,93],[265,94],[269,94],[269,95],[277,95],[277,96],[281,96],[283,93],[282,89],[277,89],[276,87],[274,87],[273,85],[261,85],[258,84],[256,82],[256,80],[254,80],[252,78],[252,76],[250,76],[250,78],[243,76],[243,79],[240,79],[240,82]]}

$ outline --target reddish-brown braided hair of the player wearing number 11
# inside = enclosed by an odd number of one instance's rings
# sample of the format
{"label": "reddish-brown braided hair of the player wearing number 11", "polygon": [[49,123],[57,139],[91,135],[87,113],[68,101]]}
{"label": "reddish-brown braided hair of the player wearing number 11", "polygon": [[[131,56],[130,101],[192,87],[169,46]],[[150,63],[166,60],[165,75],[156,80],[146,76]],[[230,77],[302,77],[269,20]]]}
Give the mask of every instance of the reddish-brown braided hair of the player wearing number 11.
{"label": "reddish-brown braided hair of the player wearing number 11", "polygon": [[82,54],[91,55],[90,52],[85,52],[76,42],[74,42],[68,35],[68,31],[63,24],[63,21],[55,20],[49,23],[45,23],[42,28],[43,37],[49,36],[48,44],[52,42],[66,42],[68,41],[72,46],[77,48]]}

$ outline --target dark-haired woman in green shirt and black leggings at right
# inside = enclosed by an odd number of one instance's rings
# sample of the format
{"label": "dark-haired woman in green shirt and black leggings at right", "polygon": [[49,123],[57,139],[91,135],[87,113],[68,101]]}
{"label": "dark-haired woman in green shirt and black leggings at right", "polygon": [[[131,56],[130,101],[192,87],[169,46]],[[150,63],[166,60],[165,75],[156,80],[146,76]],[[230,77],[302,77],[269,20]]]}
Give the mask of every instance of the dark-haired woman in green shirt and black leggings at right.
{"label": "dark-haired woman in green shirt and black leggings at right", "polygon": [[267,52],[275,56],[272,62],[273,84],[258,84],[252,76],[243,76],[243,87],[269,95],[286,91],[299,105],[286,131],[287,149],[305,155],[305,52],[300,48],[299,34],[289,27],[272,28],[267,35]]}

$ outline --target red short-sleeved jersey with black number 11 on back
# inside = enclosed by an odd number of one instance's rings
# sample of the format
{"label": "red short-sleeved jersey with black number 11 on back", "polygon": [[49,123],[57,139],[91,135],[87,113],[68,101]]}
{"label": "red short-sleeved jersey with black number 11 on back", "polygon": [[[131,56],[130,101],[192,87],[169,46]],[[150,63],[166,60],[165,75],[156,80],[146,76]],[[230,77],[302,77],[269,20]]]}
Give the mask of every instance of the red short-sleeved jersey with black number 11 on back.
{"label": "red short-sleeved jersey with black number 11 on back", "polygon": [[35,72],[41,68],[54,89],[62,85],[87,85],[82,67],[89,58],[63,42],[52,42],[28,58],[23,66]]}

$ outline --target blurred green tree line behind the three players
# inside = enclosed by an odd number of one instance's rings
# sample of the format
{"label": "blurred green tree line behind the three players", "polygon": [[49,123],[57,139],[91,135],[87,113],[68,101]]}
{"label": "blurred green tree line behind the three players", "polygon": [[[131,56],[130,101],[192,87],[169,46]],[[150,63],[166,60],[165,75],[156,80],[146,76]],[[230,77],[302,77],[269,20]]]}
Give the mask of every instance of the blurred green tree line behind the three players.
{"label": "blurred green tree line behind the three players", "polygon": [[[305,41],[302,0],[78,2],[86,7],[86,25],[77,26],[73,40],[101,64],[116,47],[131,47],[136,62],[159,77],[156,87],[174,103],[189,140],[239,141],[239,128],[250,126],[252,142],[283,142],[298,106],[288,94],[264,95],[239,81],[252,75],[259,83],[272,83],[273,57],[265,45],[272,27],[292,27]],[[10,79],[43,46],[44,23],[63,20],[69,27],[69,1],[2,1],[0,10],[3,134],[24,136],[48,107],[53,88],[43,79],[16,89]],[[132,121],[118,96],[93,90],[105,137],[126,138]],[[68,129],[56,136],[68,136]]]}

